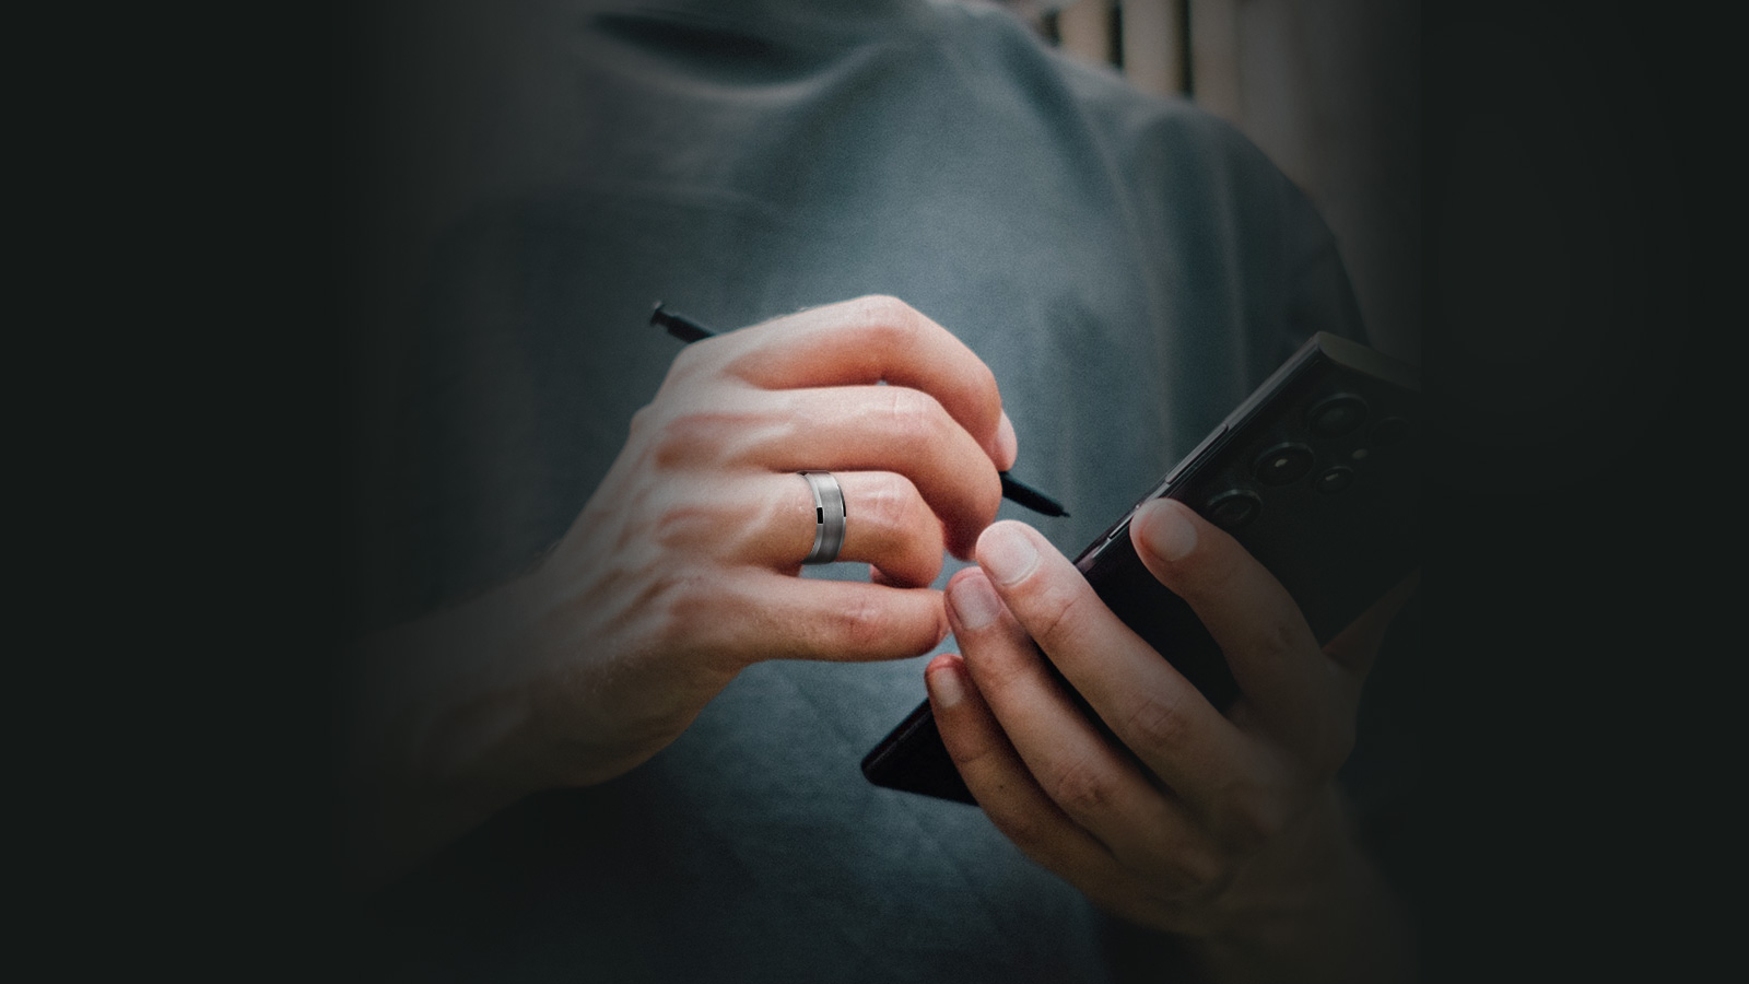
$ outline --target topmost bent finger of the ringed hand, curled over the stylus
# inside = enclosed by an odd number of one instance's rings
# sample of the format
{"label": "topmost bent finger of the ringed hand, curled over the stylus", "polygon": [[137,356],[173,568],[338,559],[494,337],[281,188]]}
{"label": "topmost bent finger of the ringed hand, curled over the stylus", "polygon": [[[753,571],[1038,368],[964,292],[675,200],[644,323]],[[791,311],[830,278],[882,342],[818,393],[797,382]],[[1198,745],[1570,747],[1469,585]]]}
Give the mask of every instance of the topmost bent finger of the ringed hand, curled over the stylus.
{"label": "topmost bent finger of the ringed hand, curled over the stylus", "polygon": [[964,341],[897,298],[857,298],[735,333],[728,371],[764,389],[888,382],[936,397],[990,455],[1014,464],[995,373]]}

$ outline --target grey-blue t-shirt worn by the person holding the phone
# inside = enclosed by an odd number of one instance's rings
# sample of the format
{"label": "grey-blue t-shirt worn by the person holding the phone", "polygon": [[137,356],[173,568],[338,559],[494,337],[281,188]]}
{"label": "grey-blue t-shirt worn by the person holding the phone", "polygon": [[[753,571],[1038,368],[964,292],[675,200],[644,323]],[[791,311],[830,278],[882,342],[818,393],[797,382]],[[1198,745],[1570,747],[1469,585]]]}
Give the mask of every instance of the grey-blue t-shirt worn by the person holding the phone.
{"label": "grey-blue t-shirt worn by the person holding the phone", "polygon": [[[397,361],[369,620],[563,534],[680,348],[647,324],[658,299],[722,329],[906,299],[990,364],[1014,476],[1072,513],[1002,517],[1070,555],[1307,334],[1361,336],[1327,229],[1256,147],[993,7],[523,4],[490,25],[408,32],[453,89],[390,145],[449,151],[380,226],[413,273],[378,278],[404,284],[380,298],[404,319],[378,341]],[[537,797],[378,898],[373,966],[1111,979],[1126,935],[978,809],[862,779],[925,660],[749,669],[649,763]]]}

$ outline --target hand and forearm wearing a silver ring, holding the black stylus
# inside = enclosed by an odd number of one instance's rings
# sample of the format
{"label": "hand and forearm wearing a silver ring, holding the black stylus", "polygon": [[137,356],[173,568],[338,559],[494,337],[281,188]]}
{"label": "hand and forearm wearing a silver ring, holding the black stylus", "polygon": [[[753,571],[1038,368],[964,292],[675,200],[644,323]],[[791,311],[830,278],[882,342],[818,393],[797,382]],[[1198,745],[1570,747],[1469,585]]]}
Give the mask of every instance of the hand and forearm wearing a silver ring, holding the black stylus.
{"label": "hand and forearm wearing a silver ring, holding the black stylus", "polygon": [[[645,762],[759,660],[890,660],[946,636],[943,550],[969,557],[1014,429],[995,376],[892,298],[689,345],[602,485],[526,576],[371,639],[353,713],[355,833],[381,881],[521,797]],[[840,560],[799,471],[845,492]]]}

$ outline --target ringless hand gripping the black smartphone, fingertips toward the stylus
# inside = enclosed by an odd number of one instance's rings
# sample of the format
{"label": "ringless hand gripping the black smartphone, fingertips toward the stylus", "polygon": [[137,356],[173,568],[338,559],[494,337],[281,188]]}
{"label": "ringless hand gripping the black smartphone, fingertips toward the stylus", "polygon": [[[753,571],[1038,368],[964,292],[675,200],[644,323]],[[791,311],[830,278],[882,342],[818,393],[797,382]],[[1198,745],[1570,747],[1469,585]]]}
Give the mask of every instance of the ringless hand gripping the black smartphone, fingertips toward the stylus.
{"label": "ringless hand gripping the black smartphone, fingertips toward the stylus", "polygon": [[1147,504],[1130,536],[1221,644],[1242,697],[1216,711],[1042,536],[1002,522],[979,538],[979,567],[948,585],[964,657],[927,669],[967,788],[1021,851],[1107,912],[1195,940],[1221,979],[1406,973],[1404,935],[1333,777],[1413,583],[1320,648],[1282,585],[1182,504]]}

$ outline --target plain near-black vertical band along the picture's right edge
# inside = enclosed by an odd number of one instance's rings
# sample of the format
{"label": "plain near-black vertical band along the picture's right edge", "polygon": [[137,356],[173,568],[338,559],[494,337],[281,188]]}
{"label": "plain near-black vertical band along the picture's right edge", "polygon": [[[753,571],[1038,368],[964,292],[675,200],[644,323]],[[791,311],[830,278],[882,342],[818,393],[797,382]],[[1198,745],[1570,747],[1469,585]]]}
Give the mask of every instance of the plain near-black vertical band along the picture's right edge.
{"label": "plain near-black vertical band along the picture's right edge", "polygon": [[1740,86],[1691,11],[1436,4],[1425,25],[1431,966],[1684,977],[1730,849],[1705,695],[1730,700],[1740,543],[1719,467],[1742,420],[1719,180]]}

